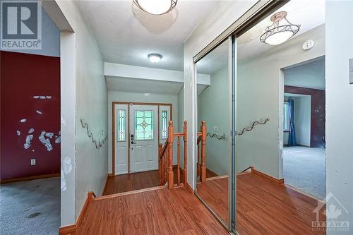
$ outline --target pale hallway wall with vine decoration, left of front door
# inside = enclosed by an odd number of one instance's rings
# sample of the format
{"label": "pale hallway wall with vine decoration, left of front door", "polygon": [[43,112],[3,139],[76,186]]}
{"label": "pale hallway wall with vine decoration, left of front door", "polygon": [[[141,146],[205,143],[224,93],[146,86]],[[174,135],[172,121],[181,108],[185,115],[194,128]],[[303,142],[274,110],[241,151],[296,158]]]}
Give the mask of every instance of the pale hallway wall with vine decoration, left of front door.
{"label": "pale hallway wall with vine decoration, left of front door", "polygon": [[[107,85],[104,79],[102,54],[97,47],[95,37],[85,23],[86,20],[78,11],[76,3],[74,1],[56,1],[56,4],[74,32],[67,35],[61,33],[61,40],[71,40],[74,44],[74,49],[71,46],[64,48],[62,44],[61,55],[63,55],[62,52],[68,55],[69,50],[73,50],[74,60],[67,66],[73,65],[73,71],[75,71],[75,83],[71,85],[71,88],[74,86],[75,89],[69,90],[68,98],[71,100],[67,100],[66,103],[66,106],[71,105],[73,111],[66,113],[61,120],[64,126],[67,126],[67,123],[70,125],[74,123],[75,129],[71,129],[74,133],[68,131],[68,134],[75,136],[76,146],[76,153],[72,156],[66,156],[71,159],[74,174],[71,173],[70,178],[66,181],[67,189],[63,191],[64,188],[61,188],[62,197],[67,191],[74,193],[74,198],[70,195],[65,201],[66,204],[61,205],[61,215],[65,215],[61,216],[61,226],[64,226],[76,222],[89,191],[101,195],[104,189],[108,172],[107,141],[102,147],[97,148],[92,142],[92,138],[88,136],[85,125],[82,126],[81,119],[84,119],[84,122],[88,124],[95,140],[102,142],[107,137]],[[66,60],[71,59],[72,56]],[[65,61],[61,62],[65,63]],[[69,81],[66,80],[66,82]],[[67,85],[67,83],[65,84]],[[68,110],[70,109],[66,109],[66,111]],[[71,115],[72,112],[75,113],[74,116]],[[61,164],[66,164],[66,157],[61,157]],[[72,203],[75,205],[73,217]]]}

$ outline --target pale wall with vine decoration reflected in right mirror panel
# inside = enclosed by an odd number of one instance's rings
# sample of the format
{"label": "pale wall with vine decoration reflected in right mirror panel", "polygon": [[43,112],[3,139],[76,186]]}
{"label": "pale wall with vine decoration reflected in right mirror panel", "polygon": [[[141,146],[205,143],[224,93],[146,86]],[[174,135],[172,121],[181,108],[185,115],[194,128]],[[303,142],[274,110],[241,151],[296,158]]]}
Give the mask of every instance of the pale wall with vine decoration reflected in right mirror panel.
{"label": "pale wall with vine decoration reflected in right mirror panel", "polygon": [[[308,38],[315,41],[309,51],[301,49]],[[282,68],[325,54],[325,25],[294,37],[268,52],[238,63],[237,130],[250,121],[269,118],[265,125],[237,136],[237,171],[250,166],[282,179]]]}

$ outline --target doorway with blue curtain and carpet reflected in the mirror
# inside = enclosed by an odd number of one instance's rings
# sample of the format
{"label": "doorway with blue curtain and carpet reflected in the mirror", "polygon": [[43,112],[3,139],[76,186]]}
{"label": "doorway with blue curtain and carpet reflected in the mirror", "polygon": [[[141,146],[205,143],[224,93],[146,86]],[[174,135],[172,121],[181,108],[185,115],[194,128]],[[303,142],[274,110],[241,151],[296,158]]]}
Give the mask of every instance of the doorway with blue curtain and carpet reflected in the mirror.
{"label": "doorway with blue curtain and carpet reflected in the mirror", "polygon": [[283,176],[325,198],[325,56],[283,69]]}

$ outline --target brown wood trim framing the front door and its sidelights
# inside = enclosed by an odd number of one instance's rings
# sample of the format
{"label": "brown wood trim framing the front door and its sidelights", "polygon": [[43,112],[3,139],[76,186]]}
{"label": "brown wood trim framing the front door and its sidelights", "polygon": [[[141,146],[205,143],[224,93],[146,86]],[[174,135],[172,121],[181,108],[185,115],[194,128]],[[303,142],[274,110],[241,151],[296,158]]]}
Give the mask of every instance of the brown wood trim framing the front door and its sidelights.
{"label": "brown wood trim framing the front door and its sidelights", "polygon": [[[128,104],[128,137],[130,136],[130,104],[133,105],[151,105],[158,107],[158,145],[160,145],[160,106],[170,107],[170,120],[173,120],[173,104],[170,103],[144,103],[144,102],[112,102],[112,176],[115,176],[115,104]],[[130,150],[130,141],[128,141],[128,149]],[[131,174],[130,151],[128,151],[128,174]]]}

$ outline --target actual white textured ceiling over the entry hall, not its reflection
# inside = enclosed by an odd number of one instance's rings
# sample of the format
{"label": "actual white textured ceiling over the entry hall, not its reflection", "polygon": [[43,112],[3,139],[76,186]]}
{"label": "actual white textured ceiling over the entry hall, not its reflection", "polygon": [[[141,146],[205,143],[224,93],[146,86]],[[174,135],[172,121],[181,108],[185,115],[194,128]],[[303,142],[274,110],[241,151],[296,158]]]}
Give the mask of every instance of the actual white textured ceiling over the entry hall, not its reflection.
{"label": "actual white textured ceiling over the entry hall, not its reflection", "polygon": [[[77,1],[104,61],[183,70],[183,44],[217,1],[178,1],[173,11],[152,16],[129,1]],[[162,54],[158,64],[150,53]]]}

